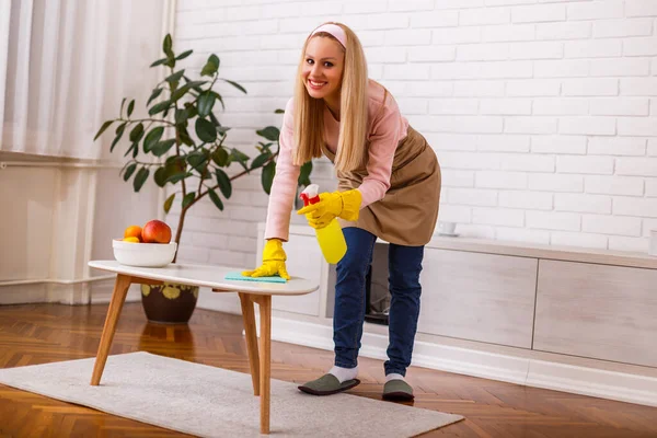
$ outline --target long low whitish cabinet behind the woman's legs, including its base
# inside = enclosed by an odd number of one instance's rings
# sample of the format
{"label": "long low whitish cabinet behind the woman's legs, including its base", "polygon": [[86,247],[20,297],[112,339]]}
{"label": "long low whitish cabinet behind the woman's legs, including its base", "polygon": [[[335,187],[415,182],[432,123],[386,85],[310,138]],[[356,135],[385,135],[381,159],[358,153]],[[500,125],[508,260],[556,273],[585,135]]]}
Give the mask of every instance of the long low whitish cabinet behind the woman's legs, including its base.
{"label": "long low whitish cabinet behind the woman's legs, including its base", "polygon": [[[330,350],[335,267],[306,224],[285,249],[290,274],[320,289],[275,299],[275,336]],[[438,237],[423,267],[416,366],[657,405],[657,257]],[[371,286],[374,300],[388,287],[385,242]],[[365,324],[362,343],[361,356],[384,358],[387,327]]]}

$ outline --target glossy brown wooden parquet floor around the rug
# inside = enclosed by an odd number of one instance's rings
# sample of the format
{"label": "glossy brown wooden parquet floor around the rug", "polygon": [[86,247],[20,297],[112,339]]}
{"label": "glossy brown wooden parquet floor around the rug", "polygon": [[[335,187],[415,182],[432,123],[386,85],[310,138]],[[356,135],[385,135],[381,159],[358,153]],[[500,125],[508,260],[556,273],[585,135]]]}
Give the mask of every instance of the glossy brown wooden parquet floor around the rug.
{"label": "glossy brown wooden parquet floor around the rug", "polygon": [[[94,357],[106,306],[0,306],[0,367]],[[241,316],[196,310],[188,326],[148,324],[140,303],[124,308],[111,354],[146,350],[249,372]],[[272,377],[304,382],[332,365],[331,351],[272,343]],[[380,399],[382,362],[361,359],[353,394]],[[89,376],[81,376],[89,379]],[[411,368],[417,407],[465,420],[423,437],[657,437],[657,408]],[[182,437],[142,423],[0,385],[0,437]],[[309,434],[309,437],[312,434]]]}

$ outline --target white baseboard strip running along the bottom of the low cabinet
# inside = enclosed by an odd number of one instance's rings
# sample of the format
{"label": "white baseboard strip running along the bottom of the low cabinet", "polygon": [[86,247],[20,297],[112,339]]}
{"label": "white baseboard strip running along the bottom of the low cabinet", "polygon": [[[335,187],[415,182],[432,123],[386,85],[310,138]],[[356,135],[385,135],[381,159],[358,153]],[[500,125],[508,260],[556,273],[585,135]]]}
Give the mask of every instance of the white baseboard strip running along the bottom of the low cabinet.
{"label": "white baseboard strip running along the bottom of the low cabinet", "polygon": [[[274,318],[272,339],[333,350],[333,327]],[[388,336],[362,334],[360,355],[387,359]],[[413,365],[459,374],[657,406],[657,378],[416,342]]]}

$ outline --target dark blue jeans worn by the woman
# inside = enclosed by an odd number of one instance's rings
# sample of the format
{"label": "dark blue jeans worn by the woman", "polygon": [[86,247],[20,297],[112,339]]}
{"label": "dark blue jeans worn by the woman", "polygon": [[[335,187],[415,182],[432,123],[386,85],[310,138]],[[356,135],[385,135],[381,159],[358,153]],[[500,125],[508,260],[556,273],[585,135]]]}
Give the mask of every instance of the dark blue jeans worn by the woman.
{"label": "dark blue jeans worn by the woman", "polygon": [[[365,321],[365,278],[372,262],[377,237],[359,228],[345,228],[347,253],[337,263],[333,342],[335,365],[354,368]],[[406,376],[419,316],[419,273],[424,246],[390,244],[388,252],[389,286],[392,296],[389,314],[388,360],[385,374]]]}

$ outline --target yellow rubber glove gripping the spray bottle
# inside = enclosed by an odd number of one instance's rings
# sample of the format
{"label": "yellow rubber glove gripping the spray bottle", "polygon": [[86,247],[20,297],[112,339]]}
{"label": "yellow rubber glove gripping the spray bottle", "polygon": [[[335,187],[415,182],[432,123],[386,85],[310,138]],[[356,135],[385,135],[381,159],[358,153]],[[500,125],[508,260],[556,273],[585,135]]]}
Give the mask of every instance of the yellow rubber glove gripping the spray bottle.
{"label": "yellow rubber glove gripping the spray bottle", "polygon": [[333,219],[358,220],[362,196],[356,188],[346,192],[321,193],[320,201],[297,211],[306,215],[308,224],[314,229],[326,227]]}

